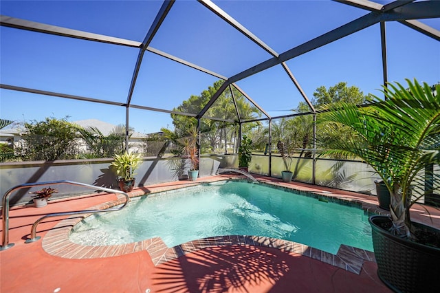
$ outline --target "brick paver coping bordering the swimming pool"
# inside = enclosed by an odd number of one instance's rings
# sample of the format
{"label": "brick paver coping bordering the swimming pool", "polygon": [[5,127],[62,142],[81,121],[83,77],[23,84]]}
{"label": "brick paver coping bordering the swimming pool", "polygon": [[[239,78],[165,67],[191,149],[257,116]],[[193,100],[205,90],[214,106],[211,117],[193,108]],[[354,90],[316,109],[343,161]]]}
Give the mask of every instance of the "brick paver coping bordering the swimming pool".
{"label": "brick paver coping bordering the swimming pool", "polygon": [[[223,177],[215,182],[225,181],[225,180],[242,180],[236,177]],[[192,184],[184,184],[180,186],[168,186],[162,188],[155,188],[155,190],[136,190],[131,192],[130,197],[140,197],[143,195],[153,195],[157,193],[164,193],[166,191],[175,191],[180,188],[186,188],[188,186],[197,186],[201,184],[212,183],[204,182],[203,180],[199,182],[194,182]],[[357,206],[364,210],[367,215],[371,214],[386,214],[386,211],[377,207],[377,204],[369,204],[362,202],[357,199],[347,199],[345,197],[338,197],[328,193],[326,191],[322,192],[311,192],[311,191],[301,191],[292,186],[283,186],[279,182],[261,182],[265,185],[269,185],[275,188],[287,189],[289,191],[294,191],[295,193],[300,193],[300,195],[306,195],[315,197],[317,199],[324,198],[331,202],[338,202],[339,204],[347,204],[350,206]],[[106,202],[104,204],[98,204],[91,207],[91,209],[107,209],[112,206],[118,206],[124,203],[124,198],[118,196],[118,199],[112,202]],[[42,246],[43,250],[48,254],[56,257],[62,257],[67,259],[95,259],[104,257],[117,257],[123,254],[135,253],[146,250],[151,256],[154,265],[159,265],[166,261],[171,261],[177,259],[178,257],[194,252],[196,250],[201,250],[203,248],[210,248],[212,246],[262,246],[266,248],[275,248],[287,253],[296,253],[303,255],[305,257],[310,257],[329,265],[342,268],[349,272],[355,274],[360,274],[362,270],[362,265],[364,261],[374,261],[374,253],[368,250],[362,250],[360,248],[353,248],[351,246],[341,245],[337,254],[331,254],[317,248],[312,248],[306,246],[302,243],[296,243],[294,241],[287,241],[283,239],[275,239],[271,237],[261,237],[252,235],[225,235],[219,237],[208,237],[204,239],[198,239],[195,241],[189,241],[182,243],[178,246],[169,248],[166,246],[164,241],[159,237],[145,239],[142,241],[137,241],[133,243],[111,245],[111,246],[84,246],[78,243],[70,241],[69,235],[76,224],[85,219],[92,214],[81,215],[80,217],[74,216],[64,219],[54,228],[49,230],[45,237],[43,237]]]}

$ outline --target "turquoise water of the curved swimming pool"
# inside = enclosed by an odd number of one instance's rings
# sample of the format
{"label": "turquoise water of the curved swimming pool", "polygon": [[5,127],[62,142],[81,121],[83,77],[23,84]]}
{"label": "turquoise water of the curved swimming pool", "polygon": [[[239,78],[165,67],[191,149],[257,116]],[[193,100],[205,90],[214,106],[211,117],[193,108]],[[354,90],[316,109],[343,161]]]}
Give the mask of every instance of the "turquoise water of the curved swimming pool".
{"label": "turquoise water of the curved swimming pool", "polygon": [[161,237],[173,247],[221,235],[285,239],[333,254],[340,244],[373,251],[371,226],[360,208],[248,182],[140,197],[124,210],[87,217],[74,226],[69,239],[107,246]]}

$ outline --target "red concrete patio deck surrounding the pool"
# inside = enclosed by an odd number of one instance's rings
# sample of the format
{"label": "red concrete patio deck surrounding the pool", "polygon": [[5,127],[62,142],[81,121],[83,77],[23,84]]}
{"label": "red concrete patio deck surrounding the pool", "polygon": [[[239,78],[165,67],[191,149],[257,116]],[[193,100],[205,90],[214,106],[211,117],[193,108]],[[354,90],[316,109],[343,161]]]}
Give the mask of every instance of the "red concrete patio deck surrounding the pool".
{"label": "red concrete patio deck surrounding the pool", "polygon": [[[197,183],[228,177],[235,176],[203,177]],[[258,178],[268,184],[337,197],[362,203],[366,210],[386,212],[377,208],[375,197],[369,195],[298,182],[287,184],[270,177]],[[145,186],[133,191],[131,196],[190,184],[194,183],[180,181]],[[0,252],[0,292],[391,292],[378,279],[374,259],[363,259],[360,273],[356,274],[335,263],[336,256],[329,261],[327,254],[316,256],[311,248],[298,250],[295,243],[276,239],[268,242],[252,237],[204,239],[178,246],[181,251],[174,248],[173,255],[169,255],[171,248],[159,246],[160,249],[155,250],[151,245],[155,241],[140,241],[131,248],[127,248],[129,245],[101,248],[94,257],[86,258],[90,253],[85,248],[72,252],[74,250],[63,247],[61,252],[56,252],[58,231],[72,226],[67,221],[50,218],[37,228],[37,235],[43,240],[24,243],[30,238],[34,221],[47,213],[82,210],[118,200],[114,194],[91,195],[53,201],[45,208],[12,208],[9,239],[14,246]],[[432,222],[422,206],[415,206],[412,219],[440,228],[439,211],[431,208],[429,213]],[[57,253],[67,256],[57,256]]]}

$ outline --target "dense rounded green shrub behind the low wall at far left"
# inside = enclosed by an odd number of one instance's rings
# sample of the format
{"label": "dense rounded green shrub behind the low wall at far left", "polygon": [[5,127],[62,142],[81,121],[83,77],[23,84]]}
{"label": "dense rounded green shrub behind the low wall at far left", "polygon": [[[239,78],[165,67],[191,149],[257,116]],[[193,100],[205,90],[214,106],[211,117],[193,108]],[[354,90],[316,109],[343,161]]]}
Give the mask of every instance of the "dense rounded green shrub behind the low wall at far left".
{"label": "dense rounded green shrub behind the low wall at far left", "polygon": [[25,123],[17,151],[27,160],[65,160],[76,155],[78,135],[67,118],[45,118],[40,122]]}

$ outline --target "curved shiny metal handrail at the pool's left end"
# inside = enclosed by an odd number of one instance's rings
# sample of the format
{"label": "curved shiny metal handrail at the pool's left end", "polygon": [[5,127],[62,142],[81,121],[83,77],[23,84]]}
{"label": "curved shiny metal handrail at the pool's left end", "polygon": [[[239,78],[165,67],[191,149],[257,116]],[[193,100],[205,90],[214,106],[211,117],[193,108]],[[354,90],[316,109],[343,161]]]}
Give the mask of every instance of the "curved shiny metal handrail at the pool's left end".
{"label": "curved shiny metal handrail at the pool's left end", "polygon": [[104,210],[78,210],[78,211],[72,211],[72,212],[47,214],[47,215],[45,215],[45,216],[43,216],[40,219],[37,219],[35,221],[35,223],[32,225],[32,229],[31,229],[31,239],[26,240],[25,243],[34,242],[34,241],[36,241],[36,240],[41,238],[41,237],[36,237],[36,226],[38,226],[40,221],[42,221],[43,219],[46,219],[47,217],[58,217],[58,216],[63,216],[63,215],[78,215],[78,214],[88,214],[88,213],[111,212],[111,211],[115,211],[115,210],[122,210],[122,208],[124,208],[130,202],[129,195],[124,193],[123,191],[117,191],[117,190],[110,189],[110,188],[104,188],[104,187],[100,187],[100,186],[94,186],[94,185],[90,185],[90,184],[74,182],[74,181],[69,181],[69,180],[50,181],[50,182],[38,182],[38,183],[25,183],[25,184],[14,186],[14,187],[10,188],[10,190],[7,191],[5,193],[5,195],[3,195],[3,210],[2,210],[2,217],[3,217],[3,219],[2,219],[2,221],[3,221],[3,230],[2,230],[3,245],[0,246],[0,251],[1,250],[6,250],[6,249],[11,248],[12,246],[14,246],[14,243],[8,243],[9,242],[9,197],[10,197],[10,195],[14,191],[17,191],[17,190],[22,189],[22,188],[30,188],[30,187],[41,186],[41,185],[57,185],[57,184],[70,184],[70,185],[76,185],[76,186],[83,186],[83,187],[91,188],[91,189],[98,190],[98,191],[105,191],[107,193],[120,193],[120,194],[122,194],[122,195],[124,195],[126,197],[126,201],[125,201],[125,203],[122,206],[120,206],[118,208],[107,208],[107,209],[104,209]]}

